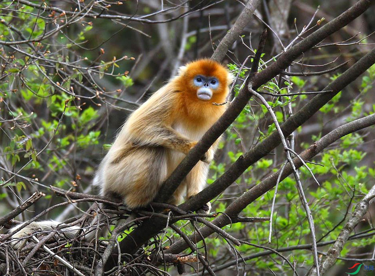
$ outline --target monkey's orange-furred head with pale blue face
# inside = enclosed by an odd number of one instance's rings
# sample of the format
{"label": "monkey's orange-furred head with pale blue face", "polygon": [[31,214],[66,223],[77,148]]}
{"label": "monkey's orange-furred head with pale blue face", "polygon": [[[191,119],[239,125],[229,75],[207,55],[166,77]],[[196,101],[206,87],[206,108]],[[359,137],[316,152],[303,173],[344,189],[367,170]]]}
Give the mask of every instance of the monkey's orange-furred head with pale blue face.
{"label": "monkey's orange-furred head with pale blue face", "polygon": [[190,100],[222,103],[233,76],[220,63],[205,58],[181,67],[178,80],[181,82],[178,90]]}

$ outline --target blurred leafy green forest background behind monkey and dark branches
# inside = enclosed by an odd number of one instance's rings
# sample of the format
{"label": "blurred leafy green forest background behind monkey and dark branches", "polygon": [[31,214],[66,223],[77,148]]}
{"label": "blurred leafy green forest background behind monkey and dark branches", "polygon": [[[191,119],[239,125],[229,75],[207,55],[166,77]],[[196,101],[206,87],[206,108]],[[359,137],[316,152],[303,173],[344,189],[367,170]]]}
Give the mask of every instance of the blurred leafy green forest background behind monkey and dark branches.
{"label": "blurred leafy green forest background behind monkey and dark branches", "polygon": [[[69,198],[54,195],[50,185],[97,195],[98,190],[90,185],[93,173],[127,116],[173,77],[179,66],[210,57],[246,2],[0,1],[0,217],[36,191],[45,196],[15,219],[26,221],[51,206],[68,202]],[[260,1],[222,59],[236,77],[231,87],[233,96],[238,95],[250,72],[254,49],[265,28],[269,31],[260,70],[355,3]],[[313,92],[324,90],[374,49],[374,14],[374,6],[369,7],[296,58],[285,69],[295,74],[278,75],[257,90],[266,93],[264,97],[280,123],[309,102]],[[373,114],[374,81],[372,66],[294,131],[288,138],[290,147],[300,153],[342,124]],[[277,97],[267,93],[294,94]],[[275,129],[266,106],[253,97],[225,131],[210,166],[208,184]],[[306,166],[299,169],[314,219],[320,261],[354,206],[374,185],[374,140],[373,127],[350,133],[317,154],[307,165],[311,171]],[[211,201],[213,213],[225,212],[234,199],[280,169],[285,160],[284,148],[279,145],[249,166]],[[42,219],[64,221],[82,214],[89,206],[87,202],[65,204],[52,208]],[[370,205],[325,275],[354,272],[348,268],[355,263],[375,265],[374,211],[374,205]],[[270,189],[243,209],[241,216],[271,217],[270,241],[269,221],[225,226],[223,230],[245,241],[240,246],[233,246],[217,234],[207,237],[204,244],[198,243],[198,251],[217,275],[294,275],[294,269],[299,275],[311,272],[314,258],[309,222],[293,175],[279,183],[276,195],[275,189]],[[175,226],[191,234],[195,231],[191,223],[180,220]],[[168,246],[178,237],[168,229],[157,239]],[[5,252],[7,245],[6,241],[0,242],[0,252]],[[154,251],[153,245],[142,248],[143,256]],[[189,254],[189,250],[184,253]],[[5,263],[0,254],[1,261]],[[44,270],[54,269],[53,259],[43,266]],[[144,275],[178,274],[174,266],[159,269]],[[197,275],[202,265],[192,263],[185,270],[186,275]],[[210,274],[207,270],[205,273]],[[358,275],[365,275],[363,267]]]}

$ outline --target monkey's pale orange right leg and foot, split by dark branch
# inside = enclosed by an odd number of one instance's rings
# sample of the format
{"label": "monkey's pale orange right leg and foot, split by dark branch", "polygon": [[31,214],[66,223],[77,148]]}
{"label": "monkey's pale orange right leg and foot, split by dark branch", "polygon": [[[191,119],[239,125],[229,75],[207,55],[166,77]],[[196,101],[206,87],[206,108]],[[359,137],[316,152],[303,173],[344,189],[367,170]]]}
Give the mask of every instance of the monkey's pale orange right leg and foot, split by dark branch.
{"label": "monkey's pale orange right leg and foot, split by dark branch", "polygon": [[[186,176],[186,198],[189,199],[190,197],[196,195],[201,190],[203,190],[204,186],[206,185],[208,174],[208,164],[202,161],[196,163],[194,168],[189,172]],[[210,213],[211,210],[211,203],[207,202],[203,205],[197,213]]]}

